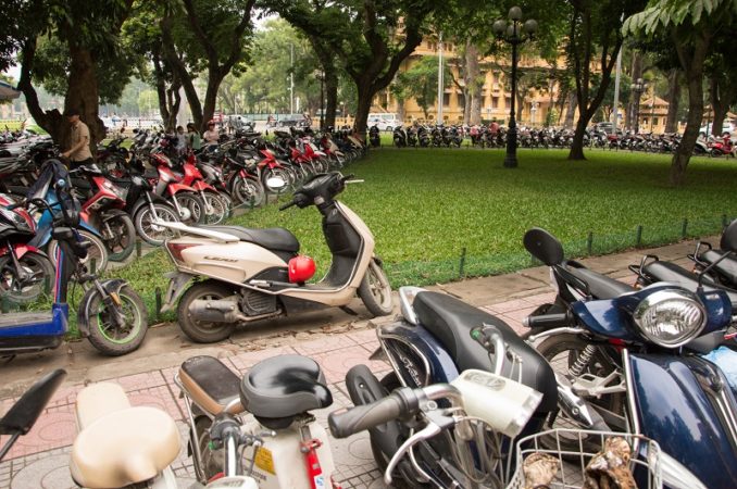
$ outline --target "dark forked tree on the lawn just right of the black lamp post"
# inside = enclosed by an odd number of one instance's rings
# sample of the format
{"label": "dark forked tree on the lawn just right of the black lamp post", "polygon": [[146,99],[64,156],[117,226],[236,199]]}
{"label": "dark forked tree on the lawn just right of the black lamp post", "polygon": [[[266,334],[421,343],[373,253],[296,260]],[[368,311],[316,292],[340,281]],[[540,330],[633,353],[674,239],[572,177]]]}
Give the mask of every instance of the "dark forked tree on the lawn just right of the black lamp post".
{"label": "dark forked tree on the lawn just right of the black lamp post", "polygon": [[[570,0],[573,8],[569,25],[567,61],[575,77],[578,121],[569,160],[585,160],[586,127],[604,99],[612,68],[622,48],[622,22],[645,5],[644,0]],[[594,65],[601,82],[591,87]]]}

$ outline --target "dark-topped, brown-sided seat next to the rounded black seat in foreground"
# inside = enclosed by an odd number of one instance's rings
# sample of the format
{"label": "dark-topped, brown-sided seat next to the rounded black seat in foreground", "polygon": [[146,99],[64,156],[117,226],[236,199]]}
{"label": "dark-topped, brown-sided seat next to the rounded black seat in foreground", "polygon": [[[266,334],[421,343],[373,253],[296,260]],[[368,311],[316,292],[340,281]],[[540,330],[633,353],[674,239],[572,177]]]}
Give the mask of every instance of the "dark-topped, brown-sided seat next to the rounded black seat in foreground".
{"label": "dark-topped, brown-sided seat next to the rounded black seat in foreground", "polygon": [[[179,380],[192,401],[213,416],[238,399],[240,379],[223,362],[213,356],[192,356],[179,367]],[[230,408],[230,414],[243,412],[242,404]]]}

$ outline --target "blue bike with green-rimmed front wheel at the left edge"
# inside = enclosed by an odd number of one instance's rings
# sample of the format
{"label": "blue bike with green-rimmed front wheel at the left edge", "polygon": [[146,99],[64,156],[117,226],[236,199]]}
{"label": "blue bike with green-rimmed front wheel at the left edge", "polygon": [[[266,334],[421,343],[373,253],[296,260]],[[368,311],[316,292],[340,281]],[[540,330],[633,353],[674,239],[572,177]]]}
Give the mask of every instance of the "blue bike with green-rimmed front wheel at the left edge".
{"label": "blue bike with green-rimmed front wheel at the left edge", "polygon": [[[92,346],[107,355],[122,355],[136,350],[148,329],[148,315],[141,298],[125,281],[117,278],[100,280],[87,271],[83,260],[89,243],[75,226],[79,212],[68,196],[65,172],[58,161],[47,163],[46,177],[53,179],[59,208],[40,198],[32,198],[23,205],[46,208],[53,215],[52,236],[59,242],[54,301],[48,313],[20,312],[0,317],[0,353],[17,354],[58,348],[68,330],[67,291],[71,278],[86,288],[77,309],[77,328]],[[21,206],[22,204],[13,204]]]}

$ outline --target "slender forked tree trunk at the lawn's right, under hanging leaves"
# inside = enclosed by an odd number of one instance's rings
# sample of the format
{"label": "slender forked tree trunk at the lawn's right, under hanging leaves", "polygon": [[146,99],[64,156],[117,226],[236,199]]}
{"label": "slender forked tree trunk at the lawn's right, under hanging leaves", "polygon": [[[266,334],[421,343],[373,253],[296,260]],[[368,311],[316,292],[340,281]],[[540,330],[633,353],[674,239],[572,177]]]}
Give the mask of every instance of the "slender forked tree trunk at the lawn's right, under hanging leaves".
{"label": "slender forked tree trunk at the lawn's right, under hanging leaves", "polygon": [[[688,117],[684,137],[680,139],[678,149],[673,154],[671,162],[671,184],[680,186],[686,179],[686,167],[694,153],[696,140],[699,137],[701,118],[703,117],[703,64],[709,50],[710,38],[705,34],[696,36],[694,39],[692,51],[683,45],[683,33],[677,28],[671,30],[680,67],[686,75],[688,84]],[[690,51],[690,52],[689,52]]]}

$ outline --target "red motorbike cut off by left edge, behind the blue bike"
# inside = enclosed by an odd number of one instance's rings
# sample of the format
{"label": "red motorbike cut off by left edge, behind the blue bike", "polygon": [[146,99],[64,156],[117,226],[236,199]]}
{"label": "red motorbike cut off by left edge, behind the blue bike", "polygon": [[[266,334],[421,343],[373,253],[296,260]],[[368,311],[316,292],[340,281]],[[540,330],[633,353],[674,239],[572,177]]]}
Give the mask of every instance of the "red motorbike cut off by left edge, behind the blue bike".
{"label": "red motorbike cut off by left edge, behind the blue bike", "polygon": [[43,251],[28,244],[36,235],[36,223],[24,209],[7,209],[14,203],[10,196],[0,193],[0,294],[25,303],[43,292],[54,266]]}

